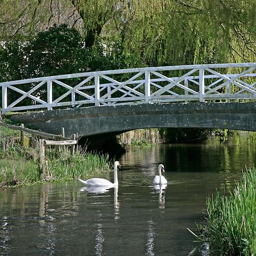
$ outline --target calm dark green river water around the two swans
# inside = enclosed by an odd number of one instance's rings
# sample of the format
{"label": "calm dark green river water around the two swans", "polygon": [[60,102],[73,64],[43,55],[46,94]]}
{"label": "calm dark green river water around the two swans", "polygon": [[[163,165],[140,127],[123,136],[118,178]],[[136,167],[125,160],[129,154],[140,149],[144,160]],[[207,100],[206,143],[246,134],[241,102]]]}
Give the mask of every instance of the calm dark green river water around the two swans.
{"label": "calm dark green river water around the two swans", "polygon": [[[118,159],[118,189],[74,180],[2,190],[0,255],[213,255],[187,228],[196,232],[206,197],[232,189],[255,156],[255,146],[216,141],[135,148]],[[167,187],[152,185],[159,163]]]}

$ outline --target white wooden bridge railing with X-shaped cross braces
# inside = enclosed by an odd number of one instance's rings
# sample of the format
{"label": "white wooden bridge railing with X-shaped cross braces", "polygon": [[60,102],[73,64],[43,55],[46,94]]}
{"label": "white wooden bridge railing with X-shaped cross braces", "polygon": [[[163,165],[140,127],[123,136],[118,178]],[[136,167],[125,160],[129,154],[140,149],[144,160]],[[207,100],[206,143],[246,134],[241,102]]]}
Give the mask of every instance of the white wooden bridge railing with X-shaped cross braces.
{"label": "white wooden bridge railing with X-shaped cross braces", "polygon": [[76,73],[0,82],[2,113],[190,101],[255,101],[256,63]]}

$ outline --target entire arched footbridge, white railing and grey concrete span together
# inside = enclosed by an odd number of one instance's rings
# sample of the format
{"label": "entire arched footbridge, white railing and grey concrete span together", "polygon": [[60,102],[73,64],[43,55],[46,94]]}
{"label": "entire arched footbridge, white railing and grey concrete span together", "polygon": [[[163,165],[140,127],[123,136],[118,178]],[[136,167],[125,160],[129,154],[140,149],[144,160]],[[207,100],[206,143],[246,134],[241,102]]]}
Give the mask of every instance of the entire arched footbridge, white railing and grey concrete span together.
{"label": "entire arched footbridge, white railing and grey concrete span together", "polygon": [[[153,127],[256,131],[256,63],[77,73],[1,82],[2,113],[69,136]],[[86,107],[86,108],[85,108]]]}

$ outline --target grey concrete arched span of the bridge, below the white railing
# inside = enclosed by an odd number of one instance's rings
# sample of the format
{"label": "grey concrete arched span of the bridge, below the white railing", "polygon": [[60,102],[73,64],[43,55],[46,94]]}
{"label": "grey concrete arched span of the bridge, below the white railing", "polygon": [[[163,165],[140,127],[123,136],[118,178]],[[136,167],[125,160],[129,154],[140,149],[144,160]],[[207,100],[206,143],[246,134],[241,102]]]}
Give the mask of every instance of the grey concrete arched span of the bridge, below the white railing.
{"label": "grey concrete arched span of the bridge, below the white railing", "polygon": [[222,128],[256,131],[256,102],[168,103],[56,109],[12,115],[11,119],[65,137],[78,134],[89,141],[142,128]]}

